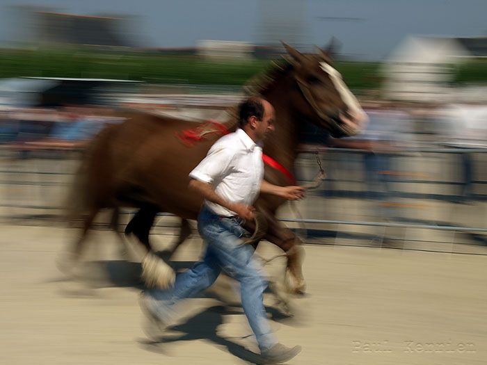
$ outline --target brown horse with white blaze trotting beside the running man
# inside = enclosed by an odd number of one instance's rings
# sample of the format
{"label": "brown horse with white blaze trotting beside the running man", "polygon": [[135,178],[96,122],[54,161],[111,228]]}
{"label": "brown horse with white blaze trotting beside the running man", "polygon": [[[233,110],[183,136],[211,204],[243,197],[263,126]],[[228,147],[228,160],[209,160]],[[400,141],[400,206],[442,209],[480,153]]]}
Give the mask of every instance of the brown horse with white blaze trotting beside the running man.
{"label": "brown horse with white blaze trotting beside the running man", "polygon": [[[342,137],[356,133],[365,120],[356,98],[330,65],[325,51],[301,54],[287,44],[285,47],[290,56],[287,63],[276,65],[248,88],[276,110],[276,131],[266,139],[264,154],[278,161],[281,168],[266,165],[264,179],[280,186],[291,184],[289,174],[282,171],[293,170],[304,123]],[[93,140],[77,175],[73,193],[82,203],[75,210],[83,218],[83,232],[75,244],[76,256],[100,209],[113,208],[116,217],[120,206],[139,208],[126,232],[133,232],[147,250],[157,212],[183,218],[180,243],[189,232],[186,219],[194,220],[200,210],[201,198],[187,188],[188,174],[221,136],[219,129],[207,127],[201,140],[189,147],[180,136],[182,131],[194,130],[194,122],[142,112],[127,113],[125,117],[125,122],[104,129]],[[223,125],[227,131],[234,131],[237,120],[232,118]],[[303,250],[299,247],[302,242],[276,219],[276,209],[283,202],[280,197],[261,194],[254,206],[267,221],[264,238],[287,255],[287,284],[300,293],[305,288]]]}

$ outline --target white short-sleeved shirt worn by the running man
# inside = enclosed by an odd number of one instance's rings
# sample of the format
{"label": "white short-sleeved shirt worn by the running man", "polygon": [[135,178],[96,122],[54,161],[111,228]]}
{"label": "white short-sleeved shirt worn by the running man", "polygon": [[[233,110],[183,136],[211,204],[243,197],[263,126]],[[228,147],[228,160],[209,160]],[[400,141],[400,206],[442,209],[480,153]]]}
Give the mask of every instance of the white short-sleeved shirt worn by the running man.
{"label": "white short-sleeved shirt worn by the running man", "polygon": [[[264,177],[262,147],[237,129],[217,140],[189,177],[211,184],[215,193],[229,202],[251,205]],[[235,215],[221,205],[207,200],[205,204],[219,216]]]}

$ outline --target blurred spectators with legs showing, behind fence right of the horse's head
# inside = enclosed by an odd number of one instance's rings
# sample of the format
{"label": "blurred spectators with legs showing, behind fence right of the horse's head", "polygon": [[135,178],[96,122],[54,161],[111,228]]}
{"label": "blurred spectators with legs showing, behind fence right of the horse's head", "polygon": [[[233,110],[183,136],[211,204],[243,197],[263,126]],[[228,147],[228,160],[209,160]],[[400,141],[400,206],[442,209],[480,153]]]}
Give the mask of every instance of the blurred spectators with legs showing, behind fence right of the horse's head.
{"label": "blurred spectators with legs showing, behind fence right of the horse's head", "polygon": [[[487,152],[486,105],[377,103],[365,105],[365,111],[369,123],[362,133],[330,140],[328,145],[362,150],[368,197],[387,203],[392,182],[428,179],[428,174],[405,172],[395,157],[432,151],[444,153],[443,159],[449,161],[449,170],[460,187],[454,194],[456,199],[466,202],[476,196],[474,185],[483,179],[476,166],[481,170],[487,156],[482,156]],[[474,156],[481,157],[474,161]]]}

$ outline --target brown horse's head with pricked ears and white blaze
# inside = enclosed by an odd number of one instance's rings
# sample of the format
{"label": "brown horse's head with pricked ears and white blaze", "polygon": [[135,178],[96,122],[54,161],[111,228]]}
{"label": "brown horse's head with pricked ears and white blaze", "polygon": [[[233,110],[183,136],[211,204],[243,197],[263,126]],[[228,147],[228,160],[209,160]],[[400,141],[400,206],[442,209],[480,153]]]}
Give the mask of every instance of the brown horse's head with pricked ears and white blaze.
{"label": "brown horse's head with pricked ears and white blaze", "polygon": [[317,54],[301,54],[285,43],[284,46],[291,56],[291,76],[296,81],[296,95],[292,96],[296,112],[327,129],[333,137],[360,131],[367,117],[342,75],[331,65],[326,51],[318,48]]}

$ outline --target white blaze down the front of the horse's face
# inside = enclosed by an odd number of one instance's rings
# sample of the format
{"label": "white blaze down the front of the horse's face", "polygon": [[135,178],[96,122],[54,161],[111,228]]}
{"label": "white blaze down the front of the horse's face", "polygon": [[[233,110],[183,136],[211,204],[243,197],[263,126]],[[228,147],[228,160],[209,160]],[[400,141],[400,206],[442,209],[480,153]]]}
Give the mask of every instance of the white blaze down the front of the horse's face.
{"label": "white blaze down the front of the horse's face", "polygon": [[335,89],[342,98],[342,101],[348,107],[348,113],[352,117],[352,120],[350,120],[345,115],[340,115],[340,119],[346,124],[349,124],[350,127],[357,128],[360,124],[362,124],[362,122],[365,122],[366,117],[366,114],[362,110],[357,98],[345,85],[340,72],[335,70],[326,62],[321,62],[319,65],[321,66],[321,70],[324,70],[324,72],[330,76],[333,86],[335,86]]}

